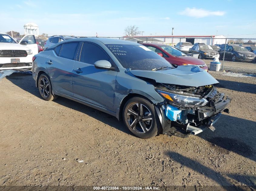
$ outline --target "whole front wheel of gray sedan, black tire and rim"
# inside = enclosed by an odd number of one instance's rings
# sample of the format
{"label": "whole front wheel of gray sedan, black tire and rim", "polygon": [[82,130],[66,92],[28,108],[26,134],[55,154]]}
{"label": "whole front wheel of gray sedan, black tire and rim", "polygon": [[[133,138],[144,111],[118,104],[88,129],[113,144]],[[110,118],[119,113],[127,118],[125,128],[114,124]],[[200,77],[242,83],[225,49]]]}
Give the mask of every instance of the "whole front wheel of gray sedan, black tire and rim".
{"label": "whole front wheel of gray sedan, black tire and rim", "polygon": [[132,97],[124,106],[125,126],[139,138],[151,138],[158,134],[161,123],[155,106],[142,97]]}

